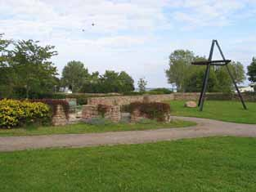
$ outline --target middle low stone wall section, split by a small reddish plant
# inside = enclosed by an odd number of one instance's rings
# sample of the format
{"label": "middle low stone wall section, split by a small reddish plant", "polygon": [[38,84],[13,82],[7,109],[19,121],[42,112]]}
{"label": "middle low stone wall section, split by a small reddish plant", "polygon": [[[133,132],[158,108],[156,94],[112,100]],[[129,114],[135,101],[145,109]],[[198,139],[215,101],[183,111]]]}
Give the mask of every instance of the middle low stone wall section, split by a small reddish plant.
{"label": "middle low stone wall section, split by a small reddish plant", "polygon": [[[90,120],[92,118],[100,118],[101,114],[98,113],[97,105],[83,105],[82,118]],[[112,122],[119,122],[121,119],[121,109],[119,105],[106,105],[105,118],[110,119]]]}

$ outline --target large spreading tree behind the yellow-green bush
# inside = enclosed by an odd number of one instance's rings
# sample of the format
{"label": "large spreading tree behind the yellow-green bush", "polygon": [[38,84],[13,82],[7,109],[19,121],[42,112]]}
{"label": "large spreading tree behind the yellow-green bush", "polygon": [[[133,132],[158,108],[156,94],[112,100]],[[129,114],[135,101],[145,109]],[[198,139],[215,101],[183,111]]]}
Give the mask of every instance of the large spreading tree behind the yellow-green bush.
{"label": "large spreading tree behind the yellow-green bush", "polygon": [[26,98],[32,92],[53,92],[56,84],[56,67],[50,61],[56,56],[55,47],[41,47],[38,41],[21,40],[14,43],[9,65],[15,77],[12,79],[16,89],[25,90]]}

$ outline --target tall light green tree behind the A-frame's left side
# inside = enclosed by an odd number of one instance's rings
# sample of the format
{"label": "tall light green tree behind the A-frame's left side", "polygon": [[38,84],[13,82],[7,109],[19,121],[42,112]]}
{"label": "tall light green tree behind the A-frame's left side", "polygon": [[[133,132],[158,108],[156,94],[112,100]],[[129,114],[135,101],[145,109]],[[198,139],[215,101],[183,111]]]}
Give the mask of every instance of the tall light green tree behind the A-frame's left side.
{"label": "tall light green tree behind the A-frame's left side", "polygon": [[186,91],[186,81],[195,66],[191,66],[194,60],[205,60],[204,57],[195,56],[192,51],[176,50],[169,56],[169,69],[165,71],[168,83],[175,83],[177,92]]}

